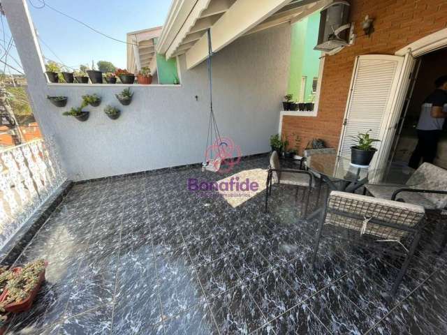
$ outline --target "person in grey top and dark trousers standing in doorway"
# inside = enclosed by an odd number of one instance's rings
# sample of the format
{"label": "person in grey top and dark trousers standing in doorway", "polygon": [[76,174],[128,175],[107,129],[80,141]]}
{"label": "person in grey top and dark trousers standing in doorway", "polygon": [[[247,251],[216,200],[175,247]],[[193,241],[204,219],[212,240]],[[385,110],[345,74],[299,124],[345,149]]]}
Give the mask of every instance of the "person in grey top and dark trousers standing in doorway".
{"label": "person in grey top and dark trousers standing in doorway", "polygon": [[447,104],[447,75],[434,81],[436,89],[425,98],[421,107],[418,126],[418,144],[409,161],[409,167],[417,169],[422,158],[423,162],[433,163],[437,154],[438,142],[442,126],[447,117],[444,105]]}

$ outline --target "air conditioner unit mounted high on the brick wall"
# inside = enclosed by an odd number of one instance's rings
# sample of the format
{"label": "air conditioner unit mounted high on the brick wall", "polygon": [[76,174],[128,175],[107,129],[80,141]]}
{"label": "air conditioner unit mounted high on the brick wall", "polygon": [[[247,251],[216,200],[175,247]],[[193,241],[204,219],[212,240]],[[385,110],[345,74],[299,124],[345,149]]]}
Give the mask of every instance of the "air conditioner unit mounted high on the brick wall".
{"label": "air conditioner unit mounted high on the brick wall", "polygon": [[349,45],[349,6],[347,1],[334,1],[321,10],[318,44],[314,50],[331,52]]}

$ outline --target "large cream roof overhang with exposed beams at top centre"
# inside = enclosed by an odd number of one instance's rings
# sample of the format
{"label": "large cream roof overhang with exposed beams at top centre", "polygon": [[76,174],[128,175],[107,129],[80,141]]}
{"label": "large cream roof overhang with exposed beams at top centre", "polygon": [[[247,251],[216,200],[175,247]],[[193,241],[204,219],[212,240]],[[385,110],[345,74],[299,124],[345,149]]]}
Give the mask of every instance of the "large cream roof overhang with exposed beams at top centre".
{"label": "large cream roof overhang with exposed beams at top centre", "polygon": [[156,46],[166,58],[186,55],[193,68],[207,58],[210,29],[213,52],[240,36],[294,23],[332,0],[174,0]]}

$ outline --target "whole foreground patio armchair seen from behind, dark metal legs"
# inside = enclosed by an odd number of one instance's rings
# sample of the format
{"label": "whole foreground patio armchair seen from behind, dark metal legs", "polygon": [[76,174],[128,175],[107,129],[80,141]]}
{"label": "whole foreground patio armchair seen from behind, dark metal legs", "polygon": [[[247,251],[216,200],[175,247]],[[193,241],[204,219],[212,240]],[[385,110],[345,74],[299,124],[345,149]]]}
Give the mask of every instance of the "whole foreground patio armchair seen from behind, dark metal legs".
{"label": "whole foreground patio armchair seen from behind, dark metal legs", "polygon": [[383,294],[391,299],[416,251],[424,218],[425,209],[416,204],[332,191],[318,225],[312,262],[315,264],[323,230],[329,229],[332,239],[348,239],[351,243],[404,257],[391,292]]}

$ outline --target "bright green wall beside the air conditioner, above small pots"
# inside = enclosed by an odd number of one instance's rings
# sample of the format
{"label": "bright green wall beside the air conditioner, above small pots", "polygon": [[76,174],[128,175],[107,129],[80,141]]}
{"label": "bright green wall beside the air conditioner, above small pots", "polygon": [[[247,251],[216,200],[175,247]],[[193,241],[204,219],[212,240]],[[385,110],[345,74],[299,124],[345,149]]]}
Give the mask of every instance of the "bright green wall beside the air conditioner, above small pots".
{"label": "bright green wall beside the air conditioner, above small pots", "polygon": [[302,77],[306,76],[304,101],[312,101],[312,82],[318,77],[320,66],[319,51],[314,50],[318,39],[318,26],[320,13],[314,13],[309,17],[292,24],[291,41],[291,68],[288,77],[288,93],[298,100],[301,90]]}

